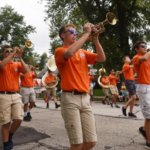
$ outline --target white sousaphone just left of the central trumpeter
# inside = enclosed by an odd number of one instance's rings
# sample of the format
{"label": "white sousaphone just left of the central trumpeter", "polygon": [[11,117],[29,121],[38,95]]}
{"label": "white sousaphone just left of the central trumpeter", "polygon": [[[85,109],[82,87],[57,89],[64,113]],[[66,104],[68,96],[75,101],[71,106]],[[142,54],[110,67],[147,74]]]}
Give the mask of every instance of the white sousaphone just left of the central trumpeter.
{"label": "white sousaphone just left of the central trumpeter", "polygon": [[[57,67],[56,67],[56,64],[55,64],[55,60],[53,58],[50,58],[47,62],[47,69],[48,70],[51,70],[52,72],[54,72]],[[45,73],[45,75],[42,77],[42,83],[43,85],[46,87],[46,88],[53,88],[55,87],[57,84],[58,84],[58,81],[59,81],[59,78],[56,76],[55,77],[55,80],[56,82],[52,82],[50,84],[46,84],[45,83],[45,78],[49,75],[48,71]]]}

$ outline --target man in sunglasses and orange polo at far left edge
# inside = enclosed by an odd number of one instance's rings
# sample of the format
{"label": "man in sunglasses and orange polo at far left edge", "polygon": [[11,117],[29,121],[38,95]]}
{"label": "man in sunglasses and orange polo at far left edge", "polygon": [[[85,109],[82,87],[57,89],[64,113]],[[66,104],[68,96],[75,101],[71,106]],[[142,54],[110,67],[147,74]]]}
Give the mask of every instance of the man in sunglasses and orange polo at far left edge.
{"label": "man in sunglasses and orange polo at far left edge", "polygon": [[[2,47],[3,60],[0,61],[0,123],[4,150],[13,149],[12,136],[19,128],[23,119],[23,104],[19,91],[19,73],[28,71],[21,54],[20,62],[12,60],[18,54],[19,48],[12,50],[11,46]],[[11,121],[13,123],[11,124]]]}

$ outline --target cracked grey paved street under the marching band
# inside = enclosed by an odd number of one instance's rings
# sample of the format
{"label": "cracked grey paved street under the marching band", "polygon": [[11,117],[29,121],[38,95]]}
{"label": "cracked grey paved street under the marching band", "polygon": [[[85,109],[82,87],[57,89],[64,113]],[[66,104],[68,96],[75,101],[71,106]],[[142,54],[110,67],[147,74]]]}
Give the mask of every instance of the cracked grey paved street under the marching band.
{"label": "cracked grey paved street under the marching band", "polygon": [[[22,130],[26,129],[28,133],[23,132],[22,135],[21,131],[18,131],[14,135],[14,143],[18,144],[14,150],[68,150],[69,142],[60,109],[55,109],[53,101],[50,102],[49,109],[43,100],[37,100],[36,105],[31,112],[32,121],[23,122],[21,125]],[[119,106],[122,107],[123,103],[119,103]],[[92,109],[98,133],[98,143],[93,150],[145,149],[145,141],[137,132],[137,128],[144,123],[140,107],[134,107],[137,119],[124,117],[121,108],[111,108],[102,103],[93,104]],[[34,140],[36,132],[41,134],[41,139]],[[17,135],[20,135],[19,140],[15,138]]]}

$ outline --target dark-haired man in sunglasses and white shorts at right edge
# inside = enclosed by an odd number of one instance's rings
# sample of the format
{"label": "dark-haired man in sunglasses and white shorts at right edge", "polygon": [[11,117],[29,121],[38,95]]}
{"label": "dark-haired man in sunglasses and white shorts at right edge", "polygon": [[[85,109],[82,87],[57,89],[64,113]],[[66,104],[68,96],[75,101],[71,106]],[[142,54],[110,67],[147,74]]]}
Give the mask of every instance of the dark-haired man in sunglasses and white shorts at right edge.
{"label": "dark-haired man in sunglasses and white shorts at right edge", "polygon": [[136,55],[133,57],[133,66],[137,73],[137,95],[140,101],[143,116],[145,118],[144,127],[139,128],[139,132],[146,140],[146,148],[150,149],[150,52],[144,41],[138,41],[133,45]]}

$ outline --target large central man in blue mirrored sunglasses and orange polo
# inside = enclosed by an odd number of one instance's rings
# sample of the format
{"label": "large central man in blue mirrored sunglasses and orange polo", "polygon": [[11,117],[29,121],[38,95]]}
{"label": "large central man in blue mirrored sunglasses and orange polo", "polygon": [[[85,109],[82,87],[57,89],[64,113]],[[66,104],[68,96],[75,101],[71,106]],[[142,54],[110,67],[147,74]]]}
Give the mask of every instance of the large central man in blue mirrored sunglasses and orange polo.
{"label": "large central man in blue mirrored sunglasses and orange polo", "polygon": [[84,25],[82,37],[77,39],[75,25],[63,25],[59,36],[63,46],[55,50],[55,61],[61,76],[61,114],[71,144],[70,150],[90,150],[96,145],[97,134],[90,105],[88,64],[105,61],[105,54],[96,34],[93,42],[97,54],[81,47],[94,31],[91,23]]}

